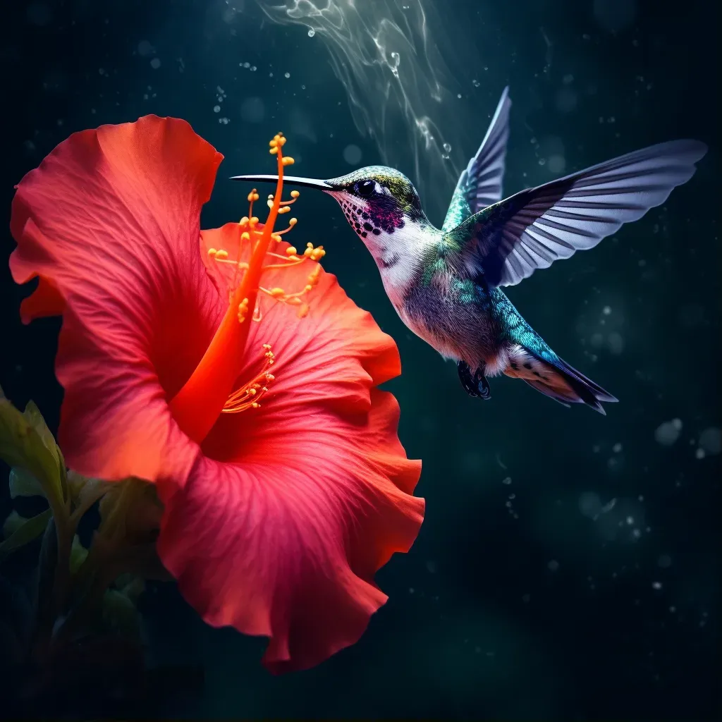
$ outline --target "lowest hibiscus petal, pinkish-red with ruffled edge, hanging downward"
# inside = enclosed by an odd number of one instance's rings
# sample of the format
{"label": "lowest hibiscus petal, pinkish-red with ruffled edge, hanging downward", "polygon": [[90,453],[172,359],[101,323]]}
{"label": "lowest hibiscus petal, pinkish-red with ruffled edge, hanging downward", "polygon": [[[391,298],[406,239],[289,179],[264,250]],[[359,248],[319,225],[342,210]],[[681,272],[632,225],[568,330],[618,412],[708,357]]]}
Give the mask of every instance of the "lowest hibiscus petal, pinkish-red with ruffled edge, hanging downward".
{"label": "lowest hibiscus petal, pinkish-red with ruffled edge, hanging downward", "polygon": [[183,596],[210,625],[268,636],[274,673],[352,645],[386,601],[373,575],[408,551],[424,510],[398,419],[374,390],[367,414],[326,414],[245,464],[199,458],[166,500],[158,551]]}

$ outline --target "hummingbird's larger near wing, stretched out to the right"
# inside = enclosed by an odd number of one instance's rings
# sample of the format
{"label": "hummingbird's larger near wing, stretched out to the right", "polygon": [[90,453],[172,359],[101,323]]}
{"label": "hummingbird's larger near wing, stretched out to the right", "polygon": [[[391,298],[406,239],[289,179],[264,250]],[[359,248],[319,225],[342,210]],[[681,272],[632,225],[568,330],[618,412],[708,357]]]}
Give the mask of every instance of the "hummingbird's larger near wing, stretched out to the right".
{"label": "hummingbird's larger near wing, stretched out to the right", "polygon": [[491,286],[513,286],[663,204],[706,152],[695,140],[653,145],[516,193],[448,237],[469,272],[484,274]]}

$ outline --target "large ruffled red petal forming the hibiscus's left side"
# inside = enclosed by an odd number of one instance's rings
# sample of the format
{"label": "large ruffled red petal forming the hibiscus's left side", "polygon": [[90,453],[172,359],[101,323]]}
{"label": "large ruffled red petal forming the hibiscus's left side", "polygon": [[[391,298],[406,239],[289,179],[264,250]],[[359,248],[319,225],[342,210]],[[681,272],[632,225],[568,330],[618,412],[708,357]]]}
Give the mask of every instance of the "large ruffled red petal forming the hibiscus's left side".
{"label": "large ruffled red petal forming the hibiscus's left side", "polygon": [[198,253],[221,159],[185,121],[147,116],[73,134],[17,187],[10,269],[17,283],[42,279],[28,317],[52,310],[45,284],[64,305],[59,438],[82,474],[182,483],[198,453],[166,398],[222,312]]}

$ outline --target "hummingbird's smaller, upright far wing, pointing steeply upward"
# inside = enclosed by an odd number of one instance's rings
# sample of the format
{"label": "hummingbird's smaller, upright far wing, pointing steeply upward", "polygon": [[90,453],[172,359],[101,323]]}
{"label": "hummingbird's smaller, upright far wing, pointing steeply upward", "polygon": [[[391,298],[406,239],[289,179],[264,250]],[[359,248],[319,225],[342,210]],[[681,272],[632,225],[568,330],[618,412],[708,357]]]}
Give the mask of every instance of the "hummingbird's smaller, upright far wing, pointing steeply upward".
{"label": "hummingbird's smaller, upright far wing, pointing steeply upward", "polygon": [[505,87],[477,155],[458,179],[442,230],[456,228],[471,214],[501,200],[510,108],[509,88]]}

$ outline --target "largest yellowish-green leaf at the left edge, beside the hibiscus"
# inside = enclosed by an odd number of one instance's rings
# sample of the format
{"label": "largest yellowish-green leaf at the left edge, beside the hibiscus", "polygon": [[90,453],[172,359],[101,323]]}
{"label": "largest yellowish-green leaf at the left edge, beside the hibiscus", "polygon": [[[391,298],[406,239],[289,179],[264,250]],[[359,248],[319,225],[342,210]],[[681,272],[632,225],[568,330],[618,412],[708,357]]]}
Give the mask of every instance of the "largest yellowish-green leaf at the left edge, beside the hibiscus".
{"label": "largest yellowish-green leaf at the left edge, beside the hibiscus", "polygon": [[43,437],[48,440],[48,435],[52,438],[52,434],[45,432],[47,427],[42,419],[34,404],[28,404],[28,416],[25,416],[0,396],[0,458],[9,466],[29,471],[43,487],[51,508],[61,508],[64,497],[58,450],[51,451],[45,445]]}

